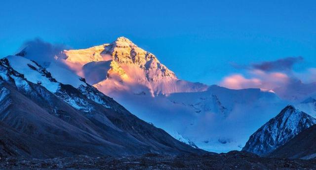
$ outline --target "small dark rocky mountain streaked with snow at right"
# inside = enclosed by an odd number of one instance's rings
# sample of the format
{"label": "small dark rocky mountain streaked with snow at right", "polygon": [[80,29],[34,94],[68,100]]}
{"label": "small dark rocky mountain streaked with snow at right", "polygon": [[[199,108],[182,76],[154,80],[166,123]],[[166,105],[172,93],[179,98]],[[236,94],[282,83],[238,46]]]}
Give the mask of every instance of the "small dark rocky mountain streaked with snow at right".
{"label": "small dark rocky mountain streaked with snow at right", "polygon": [[243,151],[261,156],[268,155],[279,146],[316,124],[316,119],[292,105],[286,106],[249,137]]}

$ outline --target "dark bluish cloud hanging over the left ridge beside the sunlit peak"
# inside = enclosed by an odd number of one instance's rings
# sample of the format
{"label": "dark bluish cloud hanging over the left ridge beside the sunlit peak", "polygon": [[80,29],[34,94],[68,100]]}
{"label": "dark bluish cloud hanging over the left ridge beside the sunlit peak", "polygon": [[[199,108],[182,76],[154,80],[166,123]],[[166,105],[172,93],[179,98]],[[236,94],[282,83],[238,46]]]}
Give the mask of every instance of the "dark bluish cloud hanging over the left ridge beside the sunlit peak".
{"label": "dark bluish cloud hanging over the left ridge beside the sunlit peak", "polygon": [[[21,46],[21,52],[25,58],[38,62],[43,67],[48,67],[55,60],[55,56],[59,55],[64,49],[67,49],[63,44],[51,44],[40,38],[26,41]],[[20,53],[22,54],[22,53]]]}

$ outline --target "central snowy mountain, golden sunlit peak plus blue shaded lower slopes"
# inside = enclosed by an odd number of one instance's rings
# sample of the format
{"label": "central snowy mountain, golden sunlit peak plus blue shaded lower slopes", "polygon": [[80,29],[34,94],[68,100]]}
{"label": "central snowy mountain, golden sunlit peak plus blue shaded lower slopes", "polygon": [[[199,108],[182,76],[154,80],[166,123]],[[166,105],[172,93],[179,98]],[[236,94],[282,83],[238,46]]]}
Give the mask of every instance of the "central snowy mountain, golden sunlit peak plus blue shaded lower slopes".
{"label": "central snowy mountain, golden sunlit peak plus blue shaded lower slopes", "polygon": [[[27,50],[21,52],[26,58]],[[154,54],[124,37],[52,57],[45,68],[57,81],[71,83],[59,73],[61,68],[75,72],[139,118],[209,151],[240,150],[260,125],[287,105],[271,91],[180,80]]]}

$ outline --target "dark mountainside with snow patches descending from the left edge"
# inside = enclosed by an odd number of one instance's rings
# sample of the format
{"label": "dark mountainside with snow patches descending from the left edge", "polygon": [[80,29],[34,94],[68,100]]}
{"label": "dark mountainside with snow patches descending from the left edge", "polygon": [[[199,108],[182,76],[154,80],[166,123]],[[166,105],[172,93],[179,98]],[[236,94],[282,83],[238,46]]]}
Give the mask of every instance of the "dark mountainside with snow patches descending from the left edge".
{"label": "dark mountainside with snow patches descending from the left edge", "polygon": [[[1,157],[203,152],[140,120],[69,70],[50,65],[20,56],[0,60]],[[58,71],[50,73],[52,67]]]}

